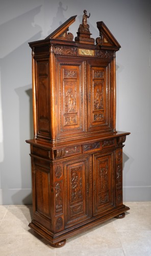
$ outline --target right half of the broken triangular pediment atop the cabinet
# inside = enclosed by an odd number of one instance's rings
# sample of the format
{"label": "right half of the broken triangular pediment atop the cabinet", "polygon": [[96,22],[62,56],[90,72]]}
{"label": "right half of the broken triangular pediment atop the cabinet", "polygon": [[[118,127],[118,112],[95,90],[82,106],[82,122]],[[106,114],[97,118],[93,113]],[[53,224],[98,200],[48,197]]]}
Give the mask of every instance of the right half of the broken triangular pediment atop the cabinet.
{"label": "right half of the broken triangular pediment atop the cabinet", "polygon": [[100,35],[100,37],[96,38],[96,44],[102,49],[118,51],[121,46],[104,22],[97,22],[96,24]]}

